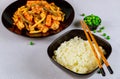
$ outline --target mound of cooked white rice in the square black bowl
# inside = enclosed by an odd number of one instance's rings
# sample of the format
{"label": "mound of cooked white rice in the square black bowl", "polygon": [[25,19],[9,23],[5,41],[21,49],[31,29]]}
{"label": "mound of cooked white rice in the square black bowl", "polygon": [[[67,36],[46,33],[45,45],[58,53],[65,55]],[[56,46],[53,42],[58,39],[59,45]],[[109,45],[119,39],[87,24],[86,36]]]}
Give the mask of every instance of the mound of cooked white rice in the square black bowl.
{"label": "mound of cooked white rice in the square black bowl", "polygon": [[[102,49],[102,47],[100,48]],[[104,52],[103,49],[102,51]],[[63,42],[60,47],[54,51],[54,54],[53,58],[58,63],[76,73],[89,73],[98,67],[88,41],[77,36],[69,41]],[[101,58],[100,55],[99,58]]]}

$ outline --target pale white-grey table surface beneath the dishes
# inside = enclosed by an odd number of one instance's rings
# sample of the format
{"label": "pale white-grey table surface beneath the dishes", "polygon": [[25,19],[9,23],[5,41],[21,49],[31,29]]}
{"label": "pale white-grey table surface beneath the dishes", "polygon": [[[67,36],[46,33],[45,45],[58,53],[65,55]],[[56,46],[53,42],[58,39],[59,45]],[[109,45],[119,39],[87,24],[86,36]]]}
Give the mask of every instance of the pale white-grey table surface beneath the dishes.
{"label": "pale white-grey table surface beneath the dishes", "polygon": [[[0,0],[0,18],[3,10],[15,0]],[[104,32],[110,35],[112,54],[108,61],[114,74],[106,77],[95,73],[88,79],[120,78],[120,0],[66,0],[75,10],[72,24],[57,35],[46,38],[27,38],[8,31],[0,20],[0,79],[73,79],[56,67],[47,55],[47,47],[59,35],[70,29],[79,29],[75,23],[80,14],[95,14],[102,18]],[[100,36],[100,34],[97,34]],[[35,45],[29,45],[33,41]]]}

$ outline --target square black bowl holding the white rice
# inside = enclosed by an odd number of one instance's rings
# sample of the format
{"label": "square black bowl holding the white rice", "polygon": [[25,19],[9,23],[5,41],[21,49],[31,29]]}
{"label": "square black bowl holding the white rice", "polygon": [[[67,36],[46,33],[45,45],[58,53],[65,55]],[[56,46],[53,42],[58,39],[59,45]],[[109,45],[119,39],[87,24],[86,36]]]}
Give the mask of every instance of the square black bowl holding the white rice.
{"label": "square black bowl holding the white rice", "polygon": [[[94,34],[93,34],[94,35]],[[70,30],[66,33],[64,33],[63,35],[61,35],[60,37],[58,37],[55,41],[53,41],[50,46],[48,47],[48,56],[50,57],[51,61],[58,67],[60,67],[62,70],[65,70],[67,73],[69,73],[71,76],[75,76],[75,77],[89,77],[91,76],[98,68],[96,68],[95,70],[93,70],[90,73],[87,74],[78,74],[75,72],[70,71],[69,69],[66,69],[65,67],[63,67],[62,65],[60,65],[59,63],[57,63],[52,57],[54,56],[54,50],[57,50],[57,48],[61,45],[61,43],[63,43],[64,41],[68,41],[71,38],[74,38],[75,36],[81,37],[82,39],[86,40],[86,36],[84,34],[83,30],[80,29],[74,29],[74,30]],[[112,47],[111,45],[104,39],[94,35],[97,43],[103,47],[103,49],[105,49],[106,51],[106,55],[105,57],[108,58],[111,54],[112,51]]]}

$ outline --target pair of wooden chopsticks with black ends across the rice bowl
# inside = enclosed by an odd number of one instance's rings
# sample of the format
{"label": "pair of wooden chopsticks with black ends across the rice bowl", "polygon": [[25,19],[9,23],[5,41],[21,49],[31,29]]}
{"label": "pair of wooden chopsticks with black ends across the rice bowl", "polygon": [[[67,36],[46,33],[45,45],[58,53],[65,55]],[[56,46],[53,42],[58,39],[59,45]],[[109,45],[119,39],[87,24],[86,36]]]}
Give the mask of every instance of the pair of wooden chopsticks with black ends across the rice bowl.
{"label": "pair of wooden chopsticks with black ends across the rice bowl", "polygon": [[[100,72],[101,72],[102,76],[105,76],[105,71],[104,71],[104,69],[103,69],[103,67],[102,67],[102,64],[101,64],[99,58],[98,58],[98,55],[97,55],[97,53],[96,53],[96,51],[95,51],[95,48],[94,48],[94,46],[93,46],[93,43],[95,44],[95,47],[97,48],[99,54],[101,55],[101,58],[102,58],[103,62],[104,62],[105,65],[107,66],[108,71],[109,71],[111,74],[113,74],[113,70],[112,70],[112,68],[110,67],[110,64],[108,63],[107,59],[105,58],[102,50],[99,48],[99,46],[98,46],[98,44],[97,44],[94,36],[92,35],[90,29],[88,28],[87,24],[86,24],[84,21],[80,21],[80,23],[81,23],[81,26],[82,26],[82,28],[83,28],[83,30],[84,30],[84,33],[85,33],[85,35],[86,35],[86,37],[87,37],[87,39],[88,39],[88,42],[89,42],[89,44],[90,44],[90,46],[91,46],[91,48],[92,48],[92,51],[94,52],[94,56],[96,57],[96,60],[97,60],[97,63],[98,63],[98,66],[99,66],[99,69],[100,69]],[[92,43],[92,41],[93,41],[93,43]]]}

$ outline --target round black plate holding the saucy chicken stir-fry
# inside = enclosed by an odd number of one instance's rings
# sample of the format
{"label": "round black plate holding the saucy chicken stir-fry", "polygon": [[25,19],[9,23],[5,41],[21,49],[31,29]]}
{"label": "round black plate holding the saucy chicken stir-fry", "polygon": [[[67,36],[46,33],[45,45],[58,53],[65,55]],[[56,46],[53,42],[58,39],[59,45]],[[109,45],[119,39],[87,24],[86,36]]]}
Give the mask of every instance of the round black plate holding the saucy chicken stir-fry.
{"label": "round black plate holding the saucy chicken stir-fry", "polygon": [[56,33],[59,33],[63,29],[67,28],[74,19],[74,9],[73,7],[64,0],[47,0],[48,2],[54,2],[57,6],[59,6],[62,11],[65,13],[65,20],[64,22],[60,23],[60,28],[58,30],[49,30],[47,33],[37,33],[37,34],[29,34],[28,31],[23,30],[20,31],[16,26],[13,25],[13,14],[14,12],[21,6],[26,4],[26,0],[18,0],[14,3],[10,4],[3,12],[2,14],[2,22],[4,26],[19,35],[28,36],[28,37],[46,37],[50,35],[54,35]]}

